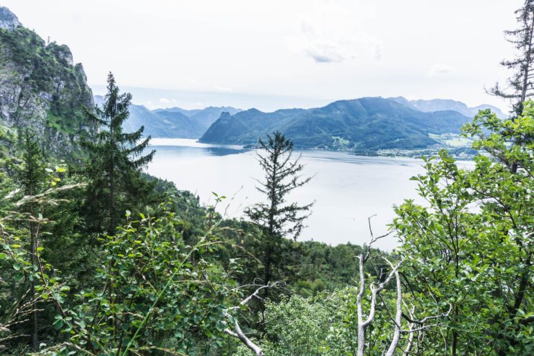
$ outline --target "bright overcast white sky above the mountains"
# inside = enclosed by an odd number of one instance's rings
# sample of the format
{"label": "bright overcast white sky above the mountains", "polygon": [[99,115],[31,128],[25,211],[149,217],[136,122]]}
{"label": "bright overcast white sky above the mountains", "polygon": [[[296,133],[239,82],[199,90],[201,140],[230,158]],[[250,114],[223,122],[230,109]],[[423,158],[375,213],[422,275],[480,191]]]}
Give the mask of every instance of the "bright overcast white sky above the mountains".
{"label": "bright overcast white sky above the mountains", "polygon": [[150,109],[322,106],[364,96],[508,103],[520,0],[0,0]]}

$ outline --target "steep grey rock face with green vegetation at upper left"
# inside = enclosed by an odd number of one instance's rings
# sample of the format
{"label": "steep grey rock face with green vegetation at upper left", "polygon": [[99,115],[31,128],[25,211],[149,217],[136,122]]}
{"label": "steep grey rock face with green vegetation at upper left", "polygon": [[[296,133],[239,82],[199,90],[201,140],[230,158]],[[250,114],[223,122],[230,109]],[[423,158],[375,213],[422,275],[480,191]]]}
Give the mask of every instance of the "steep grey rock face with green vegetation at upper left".
{"label": "steep grey rock face with green vegetation at upper left", "polygon": [[71,50],[46,44],[0,8],[0,131],[16,138],[28,128],[46,153],[75,160],[80,138],[92,133],[82,106],[92,107],[93,95]]}

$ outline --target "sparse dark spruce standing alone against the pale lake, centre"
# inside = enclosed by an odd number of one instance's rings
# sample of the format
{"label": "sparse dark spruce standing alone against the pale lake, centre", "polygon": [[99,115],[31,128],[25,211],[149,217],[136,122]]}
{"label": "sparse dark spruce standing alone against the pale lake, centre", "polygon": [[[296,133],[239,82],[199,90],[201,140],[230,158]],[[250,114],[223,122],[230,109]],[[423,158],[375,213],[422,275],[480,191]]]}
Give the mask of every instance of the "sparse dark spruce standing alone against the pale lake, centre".
{"label": "sparse dark spruce standing alone against the pale lake, centre", "polygon": [[293,142],[277,131],[267,135],[267,142],[260,139],[259,147],[265,152],[258,153],[265,180],[258,180],[256,189],[265,194],[267,203],[253,205],[245,214],[263,232],[259,250],[264,254],[264,283],[269,283],[273,279],[273,265],[279,261],[282,238],[300,235],[313,203],[298,205],[286,201],[293,189],[311,180],[300,175],[304,165],[300,164],[300,156],[293,158]]}

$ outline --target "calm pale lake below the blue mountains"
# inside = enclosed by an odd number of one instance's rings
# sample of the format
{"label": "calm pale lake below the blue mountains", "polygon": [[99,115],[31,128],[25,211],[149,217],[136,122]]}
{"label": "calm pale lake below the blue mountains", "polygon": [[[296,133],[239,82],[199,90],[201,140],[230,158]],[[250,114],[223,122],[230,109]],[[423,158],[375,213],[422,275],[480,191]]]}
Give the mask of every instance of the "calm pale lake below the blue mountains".
{"label": "calm pale lake below the blue mountains", "polygon": [[[178,189],[192,191],[205,205],[214,203],[212,191],[227,196],[218,207],[225,216],[239,218],[245,207],[264,199],[255,189],[255,178],[264,176],[255,150],[187,139],[154,138],[151,144],[157,153],[147,169],[149,174],[171,180]],[[409,178],[423,172],[422,160],[315,150],[294,153],[302,155],[304,175],[313,176],[289,199],[300,204],[315,201],[302,240],[332,245],[367,243],[368,216],[376,214],[371,220],[374,234],[383,234],[394,217],[394,204],[406,198],[421,201],[416,182]],[[376,243],[384,250],[396,245],[395,236]]]}

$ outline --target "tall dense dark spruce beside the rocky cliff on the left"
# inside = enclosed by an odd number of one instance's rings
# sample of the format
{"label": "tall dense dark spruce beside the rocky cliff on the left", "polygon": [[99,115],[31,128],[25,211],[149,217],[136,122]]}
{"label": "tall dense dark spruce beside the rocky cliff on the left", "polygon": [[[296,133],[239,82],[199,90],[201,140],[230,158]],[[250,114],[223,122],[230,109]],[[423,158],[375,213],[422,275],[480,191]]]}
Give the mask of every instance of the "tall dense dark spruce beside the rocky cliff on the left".
{"label": "tall dense dark spruce beside the rocky cliff on the left", "polygon": [[[86,223],[93,232],[112,233],[125,209],[131,209],[145,200],[151,184],[141,176],[141,169],[154,157],[147,155],[150,136],[142,139],[144,127],[133,133],[122,131],[129,116],[130,93],[119,93],[115,78],[109,73],[107,95],[102,108],[87,110],[89,119],[98,126],[96,139],[85,141],[90,160],[86,175]],[[140,143],[138,143],[140,142]]]}

